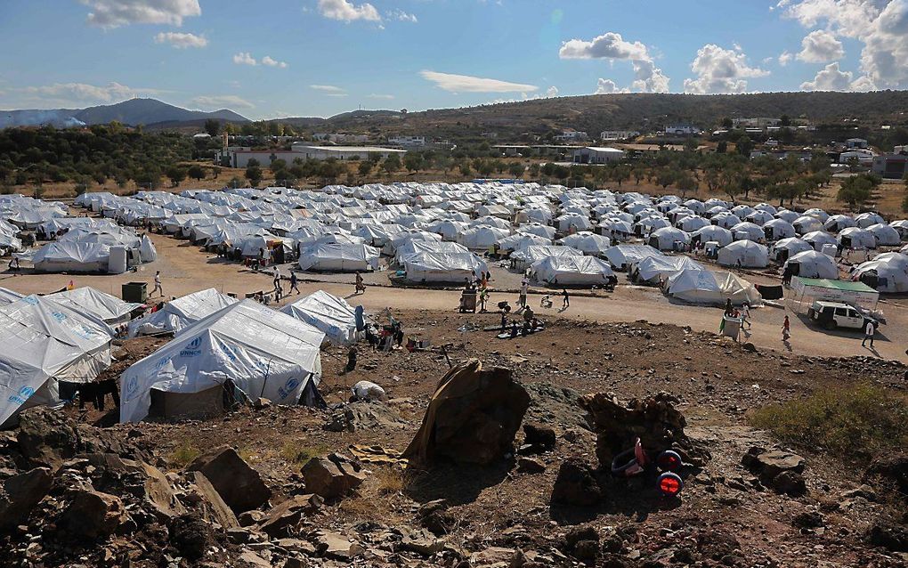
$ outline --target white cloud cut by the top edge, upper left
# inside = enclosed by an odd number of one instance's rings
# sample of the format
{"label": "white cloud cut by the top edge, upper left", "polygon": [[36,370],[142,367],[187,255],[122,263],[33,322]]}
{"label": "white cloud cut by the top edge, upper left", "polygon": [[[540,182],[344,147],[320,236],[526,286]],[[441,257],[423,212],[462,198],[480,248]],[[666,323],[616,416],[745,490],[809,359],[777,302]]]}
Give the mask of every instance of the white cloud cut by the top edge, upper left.
{"label": "white cloud cut by the top edge, upper left", "polygon": [[107,29],[130,24],[183,25],[183,18],[202,15],[199,0],[82,0],[91,12],[88,23]]}

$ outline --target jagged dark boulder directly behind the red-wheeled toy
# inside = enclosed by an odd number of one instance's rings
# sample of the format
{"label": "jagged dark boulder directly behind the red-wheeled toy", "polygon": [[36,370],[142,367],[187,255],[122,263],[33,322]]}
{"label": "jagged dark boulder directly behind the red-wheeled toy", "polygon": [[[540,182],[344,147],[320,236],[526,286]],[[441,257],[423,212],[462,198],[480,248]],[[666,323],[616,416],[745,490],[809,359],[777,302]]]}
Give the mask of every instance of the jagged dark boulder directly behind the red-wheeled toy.
{"label": "jagged dark boulder directly behind the red-wheeled toy", "polygon": [[686,463],[703,464],[711,456],[684,433],[687,421],[675,408],[671,394],[659,393],[623,403],[615,394],[587,394],[580,404],[587,409],[597,433],[599,466],[610,469],[614,457],[634,447],[637,438],[644,450],[655,457],[665,450],[681,454]]}

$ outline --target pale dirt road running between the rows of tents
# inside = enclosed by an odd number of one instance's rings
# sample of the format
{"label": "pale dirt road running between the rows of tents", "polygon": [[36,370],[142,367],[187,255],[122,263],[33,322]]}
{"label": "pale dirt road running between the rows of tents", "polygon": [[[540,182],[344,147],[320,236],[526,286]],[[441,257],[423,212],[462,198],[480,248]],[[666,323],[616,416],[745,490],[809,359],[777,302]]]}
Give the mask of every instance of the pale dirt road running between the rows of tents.
{"label": "pale dirt road running between the rows of tents", "polygon": [[[242,294],[257,290],[271,289],[271,276],[258,274],[240,264],[224,263],[213,254],[202,254],[199,248],[185,241],[154,234],[153,241],[158,248],[159,260],[140,266],[135,273],[99,276],[70,276],[66,274],[24,274],[0,276],[0,286],[25,294],[48,293],[64,288],[70,280],[76,286],[90,285],[108,294],[120,295],[120,286],[125,282],[143,281],[152,289],[154,272],[162,273],[164,292],[167,296],[190,294],[213,287],[223,293]],[[284,269],[286,276],[287,270]],[[499,271],[500,272],[500,271]],[[352,294],[350,274],[317,276],[318,283],[302,283],[303,294],[323,289],[331,294],[347,297]],[[502,278],[502,281],[509,282]],[[387,282],[384,273],[370,276],[370,283]],[[625,282],[622,276],[622,284]],[[349,284],[348,284],[349,283]],[[493,283],[495,284],[495,283]],[[647,320],[664,324],[689,325],[696,331],[718,331],[722,311],[718,308],[676,304],[669,301],[656,289],[620,285],[615,294],[599,293],[598,297],[571,298],[568,310],[541,310],[543,318],[563,317],[572,320],[599,322],[633,322]],[[538,308],[541,296],[530,295],[530,303]],[[292,301],[292,297],[289,301]],[[450,310],[457,308],[459,292],[441,290],[418,290],[371,285],[366,294],[349,298],[351,304],[362,304],[372,311],[390,307],[395,310]],[[517,294],[495,293],[489,305],[500,300],[516,304]],[[554,298],[555,308],[561,300]],[[875,351],[861,347],[858,332],[826,332],[807,326],[802,317],[778,307],[763,307],[752,311],[753,329],[742,336],[762,348],[791,351],[797,354],[818,356],[849,356],[857,354],[875,355],[908,363],[908,302],[887,301],[881,304],[888,324],[881,327],[875,338]],[[789,315],[792,337],[789,344],[782,342],[782,321]]]}

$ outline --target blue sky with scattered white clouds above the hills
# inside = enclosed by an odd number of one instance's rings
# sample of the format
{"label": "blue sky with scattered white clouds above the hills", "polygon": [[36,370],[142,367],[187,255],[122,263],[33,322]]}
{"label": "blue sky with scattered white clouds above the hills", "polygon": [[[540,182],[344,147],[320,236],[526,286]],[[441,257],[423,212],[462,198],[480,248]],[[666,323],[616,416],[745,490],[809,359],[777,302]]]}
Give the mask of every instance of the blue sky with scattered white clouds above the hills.
{"label": "blue sky with scattered white clouds above the hills", "polygon": [[2,0],[0,108],[908,87],[908,0]]}

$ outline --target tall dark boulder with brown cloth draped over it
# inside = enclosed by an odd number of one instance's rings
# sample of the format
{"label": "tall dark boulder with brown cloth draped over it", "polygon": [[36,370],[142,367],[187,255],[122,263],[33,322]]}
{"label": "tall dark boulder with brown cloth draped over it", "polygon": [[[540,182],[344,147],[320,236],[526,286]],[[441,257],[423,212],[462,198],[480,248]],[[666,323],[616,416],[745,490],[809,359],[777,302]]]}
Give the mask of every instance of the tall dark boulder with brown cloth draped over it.
{"label": "tall dark boulder with brown cloth draped over it", "polygon": [[439,458],[492,463],[513,452],[528,407],[529,394],[509,369],[484,370],[476,359],[459,364],[439,381],[403,456],[417,464]]}

